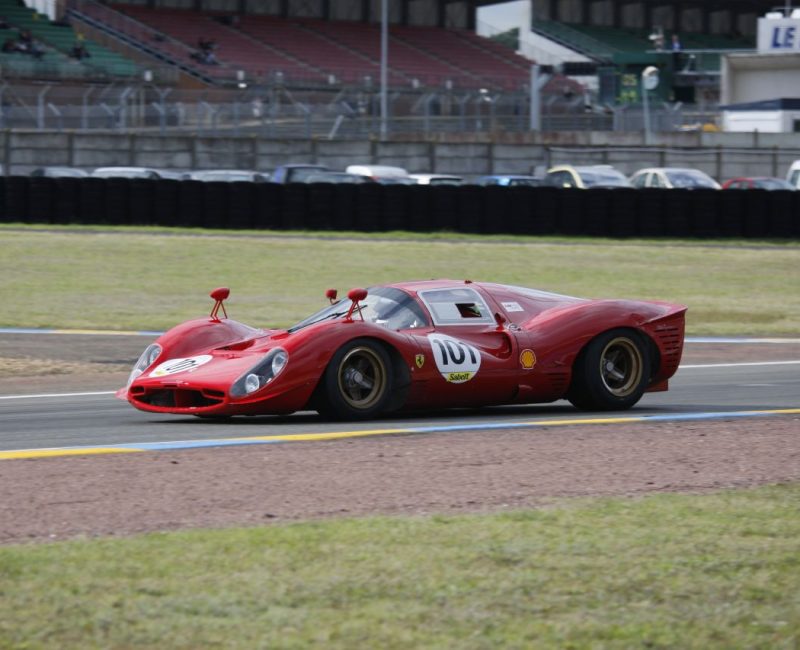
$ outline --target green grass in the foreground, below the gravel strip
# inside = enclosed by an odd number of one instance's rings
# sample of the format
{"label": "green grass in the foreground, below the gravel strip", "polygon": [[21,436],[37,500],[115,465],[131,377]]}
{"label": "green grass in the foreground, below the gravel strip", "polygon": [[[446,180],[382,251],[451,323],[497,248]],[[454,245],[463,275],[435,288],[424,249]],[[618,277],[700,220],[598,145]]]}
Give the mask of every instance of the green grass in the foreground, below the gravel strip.
{"label": "green grass in the foreground, below the gravel strip", "polygon": [[0,548],[3,648],[795,648],[800,486]]}

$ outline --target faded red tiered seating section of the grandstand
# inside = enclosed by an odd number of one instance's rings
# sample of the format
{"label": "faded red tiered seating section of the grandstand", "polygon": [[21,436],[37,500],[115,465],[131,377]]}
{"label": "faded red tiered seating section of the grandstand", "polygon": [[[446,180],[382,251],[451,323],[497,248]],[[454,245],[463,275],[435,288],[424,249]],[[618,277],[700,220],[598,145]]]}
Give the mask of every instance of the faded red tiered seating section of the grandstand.
{"label": "faded red tiered seating section of the grandstand", "polygon": [[[225,83],[242,71],[248,78],[289,85],[377,82],[380,28],[376,23],[282,18],[181,9],[153,9],[91,0],[71,12],[75,21],[131,42],[149,34],[146,49],[211,83]],[[160,37],[160,38],[157,38]],[[198,39],[216,44],[216,62],[193,62]],[[177,48],[176,48],[177,44]],[[468,30],[392,25],[389,83],[393,87],[443,86],[518,89],[530,61]]]}

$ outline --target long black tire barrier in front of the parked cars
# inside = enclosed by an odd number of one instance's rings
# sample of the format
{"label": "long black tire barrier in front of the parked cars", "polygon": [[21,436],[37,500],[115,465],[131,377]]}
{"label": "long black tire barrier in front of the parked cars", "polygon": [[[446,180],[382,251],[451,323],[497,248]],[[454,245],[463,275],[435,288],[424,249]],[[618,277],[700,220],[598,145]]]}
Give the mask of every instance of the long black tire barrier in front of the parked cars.
{"label": "long black tire barrier in front of the parked cars", "polygon": [[800,238],[800,191],[0,177],[0,221],[590,237]]}

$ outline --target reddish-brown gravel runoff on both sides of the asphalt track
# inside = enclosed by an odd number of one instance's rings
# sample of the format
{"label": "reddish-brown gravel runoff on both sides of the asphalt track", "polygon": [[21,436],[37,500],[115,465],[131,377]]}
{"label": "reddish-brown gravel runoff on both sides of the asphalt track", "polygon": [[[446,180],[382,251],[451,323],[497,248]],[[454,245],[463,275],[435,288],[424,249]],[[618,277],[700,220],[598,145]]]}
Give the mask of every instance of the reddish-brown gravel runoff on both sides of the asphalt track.
{"label": "reddish-brown gravel runoff on both sides of the asphalt track", "polygon": [[[12,340],[13,339],[13,340]],[[110,389],[141,337],[0,335],[0,395]],[[687,345],[685,363],[800,358],[800,344]],[[102,370],[101,370],[102,369]],[[456,431],[0,461],[0,543],[800,480],[797,416]]]}

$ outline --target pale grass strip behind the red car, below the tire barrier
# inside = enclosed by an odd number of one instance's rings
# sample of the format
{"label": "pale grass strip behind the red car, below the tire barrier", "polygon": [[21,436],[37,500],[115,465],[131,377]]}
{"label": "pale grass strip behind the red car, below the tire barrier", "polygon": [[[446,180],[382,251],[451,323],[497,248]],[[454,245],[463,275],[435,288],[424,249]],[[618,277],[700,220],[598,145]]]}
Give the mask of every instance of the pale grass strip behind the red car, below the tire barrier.
{"label": "pale grass strip behind the red car, below the tire barrier", "polygon": [[[299,238],[137,229],[0,229],[0,326],[166,329],[232,289],[229,313],[288,326],[347,290],[472,278],[689,306],[691,334],[800,332],[800,247],[386,234]],[[394,237],[394,234],[392,234]]]}

